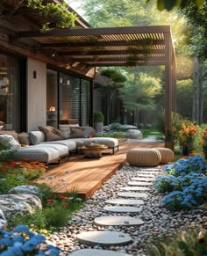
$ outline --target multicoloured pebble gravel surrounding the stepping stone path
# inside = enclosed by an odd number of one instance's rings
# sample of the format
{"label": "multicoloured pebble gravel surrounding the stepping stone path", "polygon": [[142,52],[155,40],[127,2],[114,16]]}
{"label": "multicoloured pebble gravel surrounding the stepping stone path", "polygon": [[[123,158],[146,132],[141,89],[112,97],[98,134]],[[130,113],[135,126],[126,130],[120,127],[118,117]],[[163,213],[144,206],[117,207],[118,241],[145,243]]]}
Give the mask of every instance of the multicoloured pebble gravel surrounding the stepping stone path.
{"label": "multicoloured pebble gravel surrounding the stepping stone path", "polygon": [[[166,208],[162,208],[159,201],[163,197],[162,194],[155,192],[151,187],[145,204],[140,206],[142,211],[139,213],[108,213],[103,210],[106,206],[105,200],[117,198],[120,187],[125,187],[132,177],[137,177],[138,167],[125,165],[118,170],[111,179],[107,180],[103,186],[89,198],[84,206],[72,216],[68,225],[61,228],[59,232],[55,232],[49,239],[55,245],[61,248],[61,256],[68,256],[71,252],[75,252],[84,248],[108,249],[118,252],[129,253],[133,256],[147,256],[147,244],[154,238],[167,237],[179,230],[207,229],[207,210],[206,208],[196,208],[188,212],[170,212]],[[163,175],[159,172],[158,176]],[[139,217],[144,224],[139,227],[98,227],[93,222],[97,216],[133,216]],[[124,232],[132,237],[132,244],[125,246],[101,247],[99,245],[89,246],[81,245],[75,239],[76,234],[87,230],[113,230]]]}

